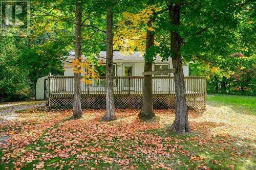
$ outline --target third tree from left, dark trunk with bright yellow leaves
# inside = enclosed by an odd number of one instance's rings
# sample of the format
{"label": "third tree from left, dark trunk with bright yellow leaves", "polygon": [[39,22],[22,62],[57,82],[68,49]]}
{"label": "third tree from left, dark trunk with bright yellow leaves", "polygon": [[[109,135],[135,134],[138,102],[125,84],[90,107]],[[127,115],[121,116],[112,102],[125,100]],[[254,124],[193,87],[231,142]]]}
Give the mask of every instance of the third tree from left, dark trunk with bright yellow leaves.
{"label": "third tree from left, dark trunk with bright yellow leaves", "polygon": [[[123,12],[123,20],[118,23],[115,36],[117,42],[114,46],[120,51],[145,52],[144,71],[152,71],[155,58],[154,54],[148,51],[154,46],[156,10],[158,9],[155,6],[149,6],[139,14]],[[155,117],[152,101],[152,75],[144,76],[143,82],[143,104],[138,116],[142,119],[151,119]]]}

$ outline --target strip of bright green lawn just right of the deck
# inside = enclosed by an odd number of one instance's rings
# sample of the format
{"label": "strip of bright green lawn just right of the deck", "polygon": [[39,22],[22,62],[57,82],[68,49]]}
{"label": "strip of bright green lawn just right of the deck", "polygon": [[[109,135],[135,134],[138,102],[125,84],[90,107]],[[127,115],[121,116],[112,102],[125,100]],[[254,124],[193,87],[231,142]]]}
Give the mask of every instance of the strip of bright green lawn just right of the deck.
{"label": "strip of bright green lawn just right of the deck", "polygon": [[228,106],[237,113],[256,115],[256,96],[208,94],[210,106]]}

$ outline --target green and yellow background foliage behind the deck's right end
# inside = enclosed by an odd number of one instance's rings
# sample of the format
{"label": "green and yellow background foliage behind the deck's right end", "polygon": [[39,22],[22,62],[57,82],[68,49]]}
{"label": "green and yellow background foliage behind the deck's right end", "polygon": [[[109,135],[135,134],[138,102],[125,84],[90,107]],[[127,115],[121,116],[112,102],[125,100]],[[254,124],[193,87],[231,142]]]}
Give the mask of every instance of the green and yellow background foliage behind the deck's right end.
{"label": "green and yellow background foliage behind the deck's right end", "polygon": [[240,53],[215,61],[215,66],[196,62],[189,64],[190,76],[208,76],[208,92],[256,95],[256,56]]}

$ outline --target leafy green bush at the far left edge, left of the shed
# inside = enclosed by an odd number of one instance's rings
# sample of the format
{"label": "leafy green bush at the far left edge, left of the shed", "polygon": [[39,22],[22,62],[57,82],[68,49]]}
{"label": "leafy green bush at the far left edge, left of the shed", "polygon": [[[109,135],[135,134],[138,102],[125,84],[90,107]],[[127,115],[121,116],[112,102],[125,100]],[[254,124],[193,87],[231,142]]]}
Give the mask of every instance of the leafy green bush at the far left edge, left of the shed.
{"label": "leafy green bush at the far left edge, left of the shed", "polygon": [[28,71],[17,62],[17,44],[14,37],[0,37],[0,102],[23,100],[32,94]]}

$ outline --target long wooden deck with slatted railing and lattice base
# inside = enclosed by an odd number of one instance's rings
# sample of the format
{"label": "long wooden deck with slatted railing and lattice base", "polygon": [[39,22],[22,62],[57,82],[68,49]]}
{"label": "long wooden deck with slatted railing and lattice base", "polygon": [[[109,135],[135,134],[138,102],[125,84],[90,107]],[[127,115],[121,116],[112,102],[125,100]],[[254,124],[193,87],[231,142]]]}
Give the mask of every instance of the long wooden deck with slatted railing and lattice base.
{"label": "long wooden deck with slatted railing and lattice base", "polygon": [[[65,108],[68,106],[72,108],[74,77],[49,76],[48,86],[50,107]],[[185,77],[185,86],[187,105],[189,106],[189,103],[193,103],[194,108],[200,110],[205,109],[206,78]],[[93,80],[92,84],[81,82],[81,92],[82,101],[86,103],[83,104],[84,108],[105,107],[105,77]],[[153,77],[152,93],[153,103],[156,101],[156,108],[175,107],[175,86],[173,77]],[[143,99],[143,77],[114,77],[114,95],[117,108],[118,106],[131,108],[141,107]],[[92,101],[94,102],[92,103]],[[159,107],[161,105],[165,106]]]}

